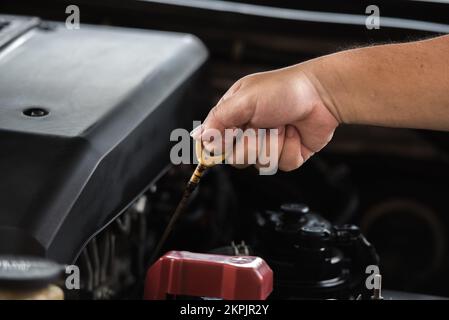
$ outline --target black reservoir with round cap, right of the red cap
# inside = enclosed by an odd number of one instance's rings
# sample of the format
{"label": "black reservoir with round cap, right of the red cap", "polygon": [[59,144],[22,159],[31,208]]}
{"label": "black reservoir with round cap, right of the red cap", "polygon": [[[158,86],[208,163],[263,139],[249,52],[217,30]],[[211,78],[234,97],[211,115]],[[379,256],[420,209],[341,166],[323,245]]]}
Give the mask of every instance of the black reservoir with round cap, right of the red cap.
{"label": "black reservoir with round cap, right of the red cap", "polygon": [[302,204],[258,215],[255,252],[276,276],[277,298],[368,298],[364,279],[377,266],[374,247],[355,225],[332,225]]}

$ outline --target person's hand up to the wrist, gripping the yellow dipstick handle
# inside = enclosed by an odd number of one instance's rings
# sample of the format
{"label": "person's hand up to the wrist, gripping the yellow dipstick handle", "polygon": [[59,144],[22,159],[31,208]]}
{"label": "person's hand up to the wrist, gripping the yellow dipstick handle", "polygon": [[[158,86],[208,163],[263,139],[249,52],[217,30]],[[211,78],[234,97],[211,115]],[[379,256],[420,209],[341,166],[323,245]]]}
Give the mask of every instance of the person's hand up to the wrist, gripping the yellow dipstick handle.
{"label": "person's hand up to the wrist, gripping the yellow dipstick handle", "polygon": [[211,128],[222,133],[227,128],[277,128],[279,169],[290,171],[321,150],[337,125],[314,84],[297,65],[238,80],[210,111],[202,132],[196,131],[193,137],[202,136],[205,147],[213,150],[213,143],[204,141]]}

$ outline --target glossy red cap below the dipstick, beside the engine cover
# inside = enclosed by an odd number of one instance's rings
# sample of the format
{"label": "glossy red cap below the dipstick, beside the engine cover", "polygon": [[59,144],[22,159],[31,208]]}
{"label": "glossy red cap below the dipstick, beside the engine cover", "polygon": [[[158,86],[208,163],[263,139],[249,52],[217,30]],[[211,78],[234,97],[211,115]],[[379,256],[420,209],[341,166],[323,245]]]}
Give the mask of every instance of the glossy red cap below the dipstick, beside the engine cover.
{"label": "glossy red cap below the dipstick, beside the engine cover", "polygon": [[273,271],[262,258],[170,251],[148,269],[144,299],[264,300],[272,290]]}

